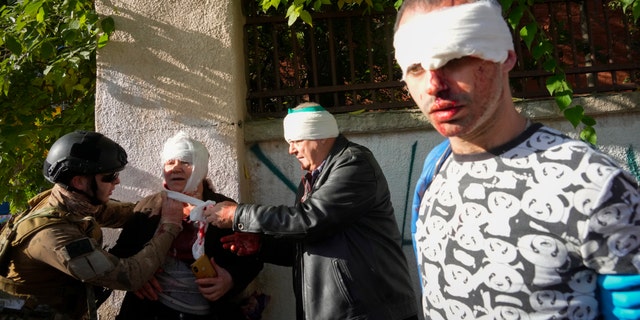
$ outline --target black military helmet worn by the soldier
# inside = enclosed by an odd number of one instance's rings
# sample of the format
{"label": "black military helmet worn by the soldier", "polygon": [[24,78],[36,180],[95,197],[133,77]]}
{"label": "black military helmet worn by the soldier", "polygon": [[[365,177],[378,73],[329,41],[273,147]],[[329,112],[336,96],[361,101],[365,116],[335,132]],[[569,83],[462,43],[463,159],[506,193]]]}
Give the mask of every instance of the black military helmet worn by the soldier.
{"label": "black military helmet worn by the soldier", "polygon": [[53,143],[42,173],[53,183],[68,185],[71,178],[121,171],[127,153],[113,140],[92,131],[67,133]]}

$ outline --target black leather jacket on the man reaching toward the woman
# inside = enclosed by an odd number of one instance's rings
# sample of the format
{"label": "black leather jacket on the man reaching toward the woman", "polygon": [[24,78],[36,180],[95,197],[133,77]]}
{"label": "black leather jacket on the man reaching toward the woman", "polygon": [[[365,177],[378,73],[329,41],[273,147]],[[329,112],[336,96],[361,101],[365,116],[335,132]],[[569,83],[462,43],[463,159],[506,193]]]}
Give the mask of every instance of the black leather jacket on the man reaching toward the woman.
{"label": "black leather jacket on the man reaching toward the woman", "polygon": [[389,188],[373,154],[340,135],[300,203],[303,192],[301,184],[292,207],[241,204],[233,226],[266,235],[266,262],[293,266],[297,319],[416,315]]}

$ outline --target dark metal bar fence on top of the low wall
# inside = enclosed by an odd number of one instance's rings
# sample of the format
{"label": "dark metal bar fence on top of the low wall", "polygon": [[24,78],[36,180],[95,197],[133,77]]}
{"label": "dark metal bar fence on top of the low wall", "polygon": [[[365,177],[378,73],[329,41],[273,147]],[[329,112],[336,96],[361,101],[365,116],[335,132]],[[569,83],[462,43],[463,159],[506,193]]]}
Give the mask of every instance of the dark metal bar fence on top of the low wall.
{"label": "dark metal bar fence on top of the low wall", "polygon": [[[534,7],[575,94],[640,87],[639,28],[612,3],[545,0]],[[292,27],[283,16],[261,13],[255,0],[245,0],[244,10],[250,117],[281,117],[303,101],[333,113],[414,106],[394,60],[395,9],[317,13],[313,26]],[[548,97],[549,74],[533,65],[515,34],[514,97]]]}

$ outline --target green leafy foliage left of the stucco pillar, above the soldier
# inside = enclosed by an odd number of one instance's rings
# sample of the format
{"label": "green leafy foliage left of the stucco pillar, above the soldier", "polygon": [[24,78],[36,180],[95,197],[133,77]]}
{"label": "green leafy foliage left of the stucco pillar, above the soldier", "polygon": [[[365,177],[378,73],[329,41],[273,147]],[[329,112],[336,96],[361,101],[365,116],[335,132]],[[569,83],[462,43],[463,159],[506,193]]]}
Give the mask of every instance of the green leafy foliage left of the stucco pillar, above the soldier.
{"label": "green leafy foliage left of the stucco pillar, above the soldier", "polygon": [[0,7],[0,201],[12,212],[51,187],[42,164],[53,141],[94,128],[96,49],[113,31],[92,0]]}

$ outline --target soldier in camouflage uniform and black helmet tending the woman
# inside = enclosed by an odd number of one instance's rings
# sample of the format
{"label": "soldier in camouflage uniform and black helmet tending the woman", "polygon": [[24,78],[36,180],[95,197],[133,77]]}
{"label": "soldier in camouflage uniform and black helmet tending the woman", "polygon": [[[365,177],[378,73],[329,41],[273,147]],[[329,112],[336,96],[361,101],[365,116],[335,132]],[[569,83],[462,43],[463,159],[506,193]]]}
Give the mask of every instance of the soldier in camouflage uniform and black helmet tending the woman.
{"label": "soldier in camouflage uniform and black helmet tending the woman", "polygon": [[182,229],[182,204],[162,198],[159,227],[137,254],[119,259],[103,250],[101,227],[120,227],[133,214],[134,204],[110,200],[126,164],[124,149],[96,132],[72,132],[53,144],[43,173],[54,187],[0,235],[7,248],[0,319],[95,318],[94,286],[137,290],[151,278]]}

